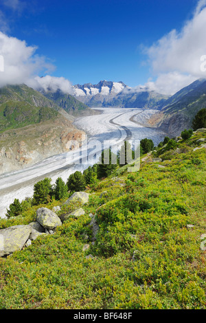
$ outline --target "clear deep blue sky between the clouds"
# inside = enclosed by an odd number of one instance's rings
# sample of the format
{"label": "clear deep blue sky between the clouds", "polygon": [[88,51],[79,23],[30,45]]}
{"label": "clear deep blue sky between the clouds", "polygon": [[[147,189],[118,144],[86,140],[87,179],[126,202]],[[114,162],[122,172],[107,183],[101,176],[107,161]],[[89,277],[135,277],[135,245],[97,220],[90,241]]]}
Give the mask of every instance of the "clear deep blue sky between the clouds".
{"label": "clear deep blue sky between the clouds", "polygon": [[72,84],[122,80],[136,87],[158,76],[145,47],[172,30],[180,32],[199,2],[1,0],[0,31],[38,46],[35,54],[55,66],[51,76]]}

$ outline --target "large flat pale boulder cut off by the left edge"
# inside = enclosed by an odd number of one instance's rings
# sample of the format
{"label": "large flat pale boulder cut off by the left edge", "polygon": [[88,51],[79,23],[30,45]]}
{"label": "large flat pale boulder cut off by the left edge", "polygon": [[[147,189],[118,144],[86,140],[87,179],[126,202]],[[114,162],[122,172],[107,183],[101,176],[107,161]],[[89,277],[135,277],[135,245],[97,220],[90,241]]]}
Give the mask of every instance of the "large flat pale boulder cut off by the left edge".
{"label": "large flat pale boulder cut off by the left edge", "polygon": [[30,225],[14,225],[0,230],[0,256],[8,256],[21,250],[31,232],[32,227]]}

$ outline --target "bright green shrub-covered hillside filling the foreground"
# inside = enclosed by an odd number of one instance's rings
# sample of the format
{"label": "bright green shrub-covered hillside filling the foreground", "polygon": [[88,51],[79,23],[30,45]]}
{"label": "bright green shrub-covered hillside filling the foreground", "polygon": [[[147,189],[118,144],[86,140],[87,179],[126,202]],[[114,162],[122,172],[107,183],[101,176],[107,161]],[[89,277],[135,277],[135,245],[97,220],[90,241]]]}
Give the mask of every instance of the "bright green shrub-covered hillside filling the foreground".
{"label": "bright green shrub-covered hillside filling the foreground", "polygon": [[[155,152],[143,156],[139,172],[117,169],[87,188],[84,215],[71,216],[55,234],[0,258],[0,308],[206,309],[201,138],[206,133],[180,140],[159,155],[162,161],[154,161]],[[34,221],[40,206],[1,219],[0,228]],[[89,213],[100,225],[94,244]],[[85,243],[90,247],[83,252]]]}

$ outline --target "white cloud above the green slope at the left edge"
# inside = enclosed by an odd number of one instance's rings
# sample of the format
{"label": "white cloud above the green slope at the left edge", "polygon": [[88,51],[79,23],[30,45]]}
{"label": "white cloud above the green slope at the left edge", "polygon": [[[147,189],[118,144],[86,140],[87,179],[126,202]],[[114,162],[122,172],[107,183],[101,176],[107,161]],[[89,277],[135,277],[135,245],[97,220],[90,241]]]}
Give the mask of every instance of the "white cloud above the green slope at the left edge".
{"label": "white cloud above the green slope at the left edge", "polygon": [[35,85],[34,78],[45,71],[54,70],[54,65],[44,56],[36,54],[36,46],[0,32],[0,55],[4,58],[4,71],[0,72],[0,87],[21,84]]}

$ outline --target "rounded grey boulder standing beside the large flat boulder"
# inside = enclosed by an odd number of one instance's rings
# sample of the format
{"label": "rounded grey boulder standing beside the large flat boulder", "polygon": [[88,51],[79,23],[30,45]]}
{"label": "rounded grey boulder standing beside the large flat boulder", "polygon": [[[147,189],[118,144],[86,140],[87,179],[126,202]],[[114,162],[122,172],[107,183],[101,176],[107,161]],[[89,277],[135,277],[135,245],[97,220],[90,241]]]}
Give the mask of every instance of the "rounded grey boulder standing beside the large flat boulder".
{"label": "rounded grey boulder standing beside the large flat boulder", "polygon": [[36,211],[36,220],[48,230],[55,229],[59,225],[62,225],[58,215],[47,208],[39,208]]}

